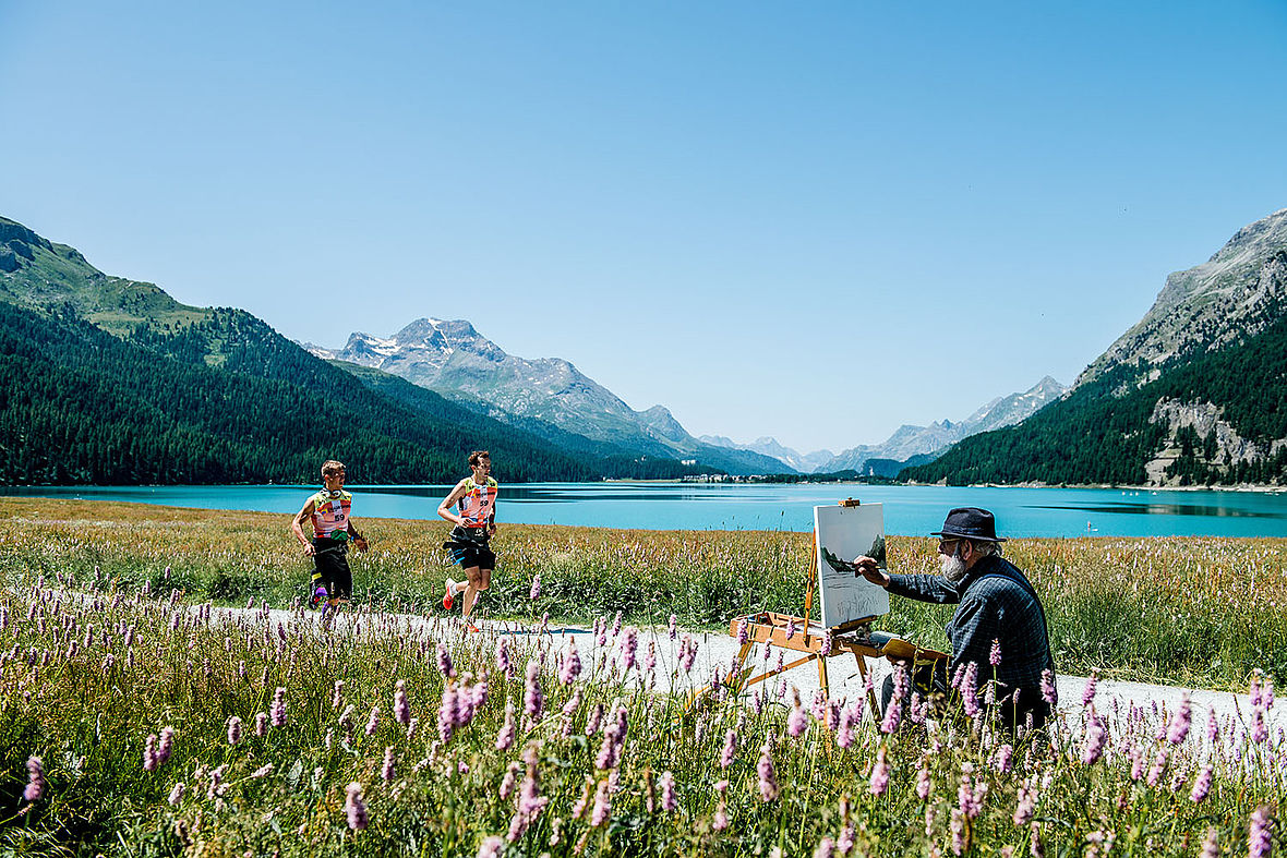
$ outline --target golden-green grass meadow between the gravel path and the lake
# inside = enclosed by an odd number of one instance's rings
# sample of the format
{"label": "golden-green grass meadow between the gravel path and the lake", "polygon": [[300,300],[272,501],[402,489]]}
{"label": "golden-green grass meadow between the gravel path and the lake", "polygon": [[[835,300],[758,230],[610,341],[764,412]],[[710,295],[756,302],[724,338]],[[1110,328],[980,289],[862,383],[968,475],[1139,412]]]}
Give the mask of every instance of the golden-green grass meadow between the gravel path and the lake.
{"label": "golden-green grass meadow between the gravel path and the lake", "polygon": [[[440,610],[453,570],[445,522],[358,521],[372,539],[368,554],[350,554],[358,602]],[[75,587],[149,584],[190,602],[287,607],[311,569],[281,515],[4,498],[0,525],[0,572],[58,574]],[[620,611],[638,625],[674,614],[681,625],[727,628],[750,611],[802,612],[811,545],[795,533],[502,525],[480,611],[587,623]],[[888,551],[893,571],[937,571],[931,539],[892,536]],[[1287,540],[1015,539],[1005,552],[1042,596],[1062,673],[1234,689],[1259,669],[1287,682]],[[896,598],[891,608],[883,628],[947,646],[950,607]]]}

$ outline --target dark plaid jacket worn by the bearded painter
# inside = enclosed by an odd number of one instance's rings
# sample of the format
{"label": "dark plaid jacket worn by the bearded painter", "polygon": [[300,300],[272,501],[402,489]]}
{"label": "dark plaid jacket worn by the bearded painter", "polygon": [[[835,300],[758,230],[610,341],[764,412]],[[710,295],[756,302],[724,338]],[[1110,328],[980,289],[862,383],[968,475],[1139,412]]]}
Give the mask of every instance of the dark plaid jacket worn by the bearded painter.
{"label": "dark plaid jacket worn by the bearded painter", "polygon": [[891,575],[889,592],[920,602],[959,605],[947,624],[952,643],[949,675],[973,661],[979,684],[991,678],[994,639],[1001,646],[996,679],[1006,686],[1037,691],[1041,671],[1054,671],[1041,602],[1023,572],[1003,557],[982,558],[956,584],[938,575]]}

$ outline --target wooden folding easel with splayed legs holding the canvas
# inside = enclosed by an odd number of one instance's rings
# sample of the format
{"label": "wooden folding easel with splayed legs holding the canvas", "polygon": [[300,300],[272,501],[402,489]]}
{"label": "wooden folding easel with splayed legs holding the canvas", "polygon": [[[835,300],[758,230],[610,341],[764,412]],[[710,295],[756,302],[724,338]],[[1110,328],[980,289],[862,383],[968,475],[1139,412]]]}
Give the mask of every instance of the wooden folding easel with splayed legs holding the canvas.
{"label": "wooden folding easel with splayed legs holding the canvas", "polygon": [[[849,498],[847,500],[842,500],[840,506],[857,507],[858,502]],[[743,623],[746,624],[746,642],[737,652],[737,660],[734,670],[730,671],[726,680],[726,684],[730,688],[735,692],[741,692],[755,683],[776,677],[779,673],[784,673],[792,668],[798,668],[808,661],[817,661],[819,683],[822,686],[822,692],[829,695],[830,688],[826,677],[826,660],[847,652],[853,653],[853,659],[858,662],[858,674],[862,677],[864,683],[866,683],[867,679],[866,659],[883,657],[894,662],[907,661],[912,668],[918,662],[947,659],[946,652],[925,650],[909,641],[903,641],[902,638],[880,633],[873,635],[871,621],[875,620],[874,616],[862,617],[861,620],[851,620],[829,629],[824,629],[819,624],[811,624],[808,616],[813,612],[813,590],[816,588],[817,534],[815,533],[813,558],[810,562],[808,585],[804,590],[804,616],[799,617],[790,614],[773,614],[771,611],[763,611],[761,614],[749,614],[746,616],[737,616],[730,620],[728,634],[735,638],[739,637],[739,626],[741,626]],[[797,632],[788,638],[788,626],[793,624]],[[822,652],[822,641],[828,632],[830,632],[831,648]],[[773,670],[762,673],[758,677],[750,677],[753,668],[745,666],[746,656],[750,655],[750,651],[757,643],[790,650],[804,655],[790,664],[784,664],[781,668],[775,668]],[[867,692],[867,705],[871,707],[871,715],[879,719],[880,706],[876,702],[874,691]]]}

